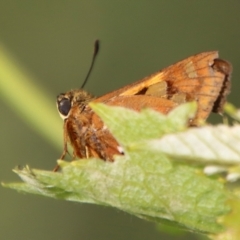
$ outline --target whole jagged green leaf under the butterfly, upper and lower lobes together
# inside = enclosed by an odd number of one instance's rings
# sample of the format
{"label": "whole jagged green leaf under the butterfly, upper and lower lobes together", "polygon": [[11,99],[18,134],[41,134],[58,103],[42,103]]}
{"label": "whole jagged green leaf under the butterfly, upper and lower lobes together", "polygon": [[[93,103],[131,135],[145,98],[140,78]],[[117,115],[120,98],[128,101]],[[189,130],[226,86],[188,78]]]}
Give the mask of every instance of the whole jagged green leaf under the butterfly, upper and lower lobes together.
{"label": "whole jagged green leaf under the butterfly, upper and lower lobes together", "polygon": [[[124,147],[114,162],[59,161],[61,172],[15,169],[24,183],[4,184],[22,192],[111,206],[138,217],[201,233],[224,230],[232,198],[224,184],[196,168],[173,161],[170,154],[143,146],[156,138],[184,133],[195,104],[167,116],[145,109],[137,113],[103,104],[91,105]],[[177,119],[179,118],[179,119]],[[142,147],[139,147],[142,144]]]}

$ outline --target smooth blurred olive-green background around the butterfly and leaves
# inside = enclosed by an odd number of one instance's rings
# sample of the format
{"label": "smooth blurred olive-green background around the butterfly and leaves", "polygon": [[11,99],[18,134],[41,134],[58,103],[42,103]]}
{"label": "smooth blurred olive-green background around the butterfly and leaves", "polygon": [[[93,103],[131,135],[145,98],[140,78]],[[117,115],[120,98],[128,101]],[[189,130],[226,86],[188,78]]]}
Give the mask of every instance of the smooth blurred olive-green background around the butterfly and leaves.
{"label": "smooth blurred olive-green background around the butterfly and leaves", "polygon": [[[190,55],[219,50],[234,67],[228,100],[239,106],[239,11],[239,1],[225,0],[1,0],[0,45],[31,75],[31,83],[49,100],[56,116],[56,96],[81,86],[95,39],[101,40],[100,54],[85,87],[95,95]],[[14,83],[11,87],[16,91]],[[24,91],[20,93],[24,96]],[[17,165],[53,169],[62,149],[29,125],[3,94],[0,107],[0,180],[19,181],[11,171]],[[34,107],[31,112],[41,110]],[[41,117],[40,123],[49,118]],[[60,118],[58,124],[62,125]],[[62,141],[61,127],[52,134]],[[116,209],[3,187],[0,203],[0,239],[197,239],[190,233],[177,237],[160,233],[155,224]]]}

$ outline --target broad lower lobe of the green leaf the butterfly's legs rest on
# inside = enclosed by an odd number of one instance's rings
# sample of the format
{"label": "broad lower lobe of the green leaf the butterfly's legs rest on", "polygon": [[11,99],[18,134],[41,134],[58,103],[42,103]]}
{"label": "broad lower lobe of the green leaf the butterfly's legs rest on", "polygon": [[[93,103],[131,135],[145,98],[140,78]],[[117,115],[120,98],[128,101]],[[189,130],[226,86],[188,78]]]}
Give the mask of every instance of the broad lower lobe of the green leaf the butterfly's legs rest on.
{"label": "broad lower lobe of the green leaf the butterfly's legs rest on", "polygon": [[[150,164],[147,163],[151,161]],[[218,232],[217,218],[229,211],[222,184],[151,152],[119,157],[60,161],[61,173],[15,170],[25,181],[7,187],[71,201],[95,203],[155,222],[171,222],[201,232]]]}

